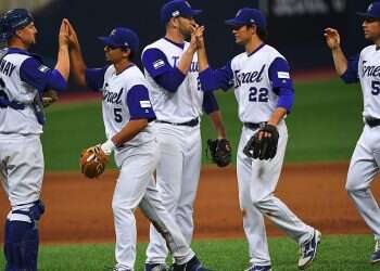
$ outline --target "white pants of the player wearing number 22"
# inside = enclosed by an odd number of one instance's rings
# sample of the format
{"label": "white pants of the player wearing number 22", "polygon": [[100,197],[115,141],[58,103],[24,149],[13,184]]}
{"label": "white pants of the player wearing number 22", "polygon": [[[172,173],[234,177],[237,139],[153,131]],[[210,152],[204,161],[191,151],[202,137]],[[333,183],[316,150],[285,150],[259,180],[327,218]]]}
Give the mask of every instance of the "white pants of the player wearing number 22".
{"label": "white pants of the player wearing number 22", "polygon": [[302,222],[275,196],[288,141],[288,129],[284,121],[278,125],[278,130],[280,137],[277,154],[271,160],[252,159],[243,154],[246,142],[256,130],[243,127],[238,149],[239,203],[249,242],[250,261],[257,266],[270,264],[263,215],[300,245],[312,238],[314,234],[312,227]]}

